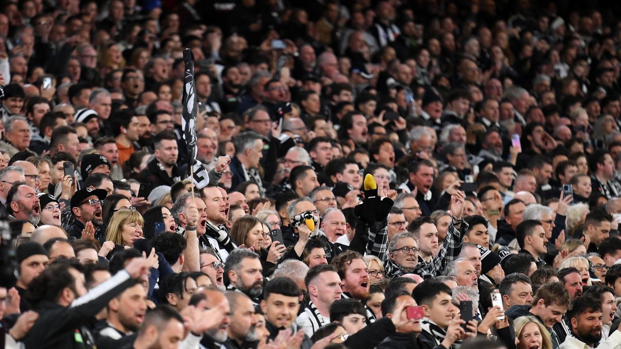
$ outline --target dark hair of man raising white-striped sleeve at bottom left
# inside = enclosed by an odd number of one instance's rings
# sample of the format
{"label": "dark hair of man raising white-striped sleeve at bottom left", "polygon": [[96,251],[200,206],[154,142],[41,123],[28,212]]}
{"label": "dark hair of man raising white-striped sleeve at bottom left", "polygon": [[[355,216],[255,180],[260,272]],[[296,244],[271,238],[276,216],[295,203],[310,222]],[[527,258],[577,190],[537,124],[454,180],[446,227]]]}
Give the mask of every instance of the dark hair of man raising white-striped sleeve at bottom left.
{"label": "dark hair of man raising white-striped sleeve at bottom left", "polygon": [[83,271],[83,266],[78,260],[67,260],[60,258],[55,260],[45,268],[34,278],[26,289],[26,298],[30,301],[30,304],[35,306],[41,301],[56,302],[60,296],[60,292],[65,288],[70,288],[75,291],[75,278],[70,272],[73,268],[80,273]]}

